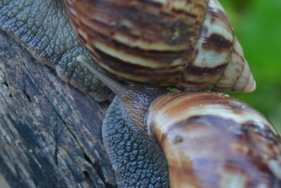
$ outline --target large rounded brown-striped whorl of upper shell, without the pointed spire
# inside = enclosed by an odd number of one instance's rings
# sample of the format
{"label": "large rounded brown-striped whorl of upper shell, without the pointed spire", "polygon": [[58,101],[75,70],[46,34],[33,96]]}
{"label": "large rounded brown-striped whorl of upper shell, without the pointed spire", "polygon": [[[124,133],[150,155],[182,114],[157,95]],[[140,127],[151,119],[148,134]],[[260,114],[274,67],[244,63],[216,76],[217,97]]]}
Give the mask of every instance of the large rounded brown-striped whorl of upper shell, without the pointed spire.
{"label": "large rounded brown-striped whorl of upper shell, without the pointed spire", "polygon": [[65,2],[81,42],[103,68],[165,86],[190,60],[207,11],[207,0]]}

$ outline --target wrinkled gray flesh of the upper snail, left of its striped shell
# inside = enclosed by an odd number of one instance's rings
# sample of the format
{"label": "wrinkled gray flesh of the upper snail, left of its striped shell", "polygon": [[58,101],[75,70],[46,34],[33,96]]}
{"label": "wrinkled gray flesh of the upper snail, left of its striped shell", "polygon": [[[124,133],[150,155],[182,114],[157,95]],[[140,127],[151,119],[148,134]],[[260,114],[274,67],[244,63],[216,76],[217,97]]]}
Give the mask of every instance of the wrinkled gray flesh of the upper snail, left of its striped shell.
{"label": "wrinkled gray flesh of the upper snail, left of its striped shell", "polygon": [[110,90],[77,61],[81,55],[96,64],[79,43],[62,0],[1,0],[0,28],[39,61],[55,68],[66,82],[97,101],[109,98]]}

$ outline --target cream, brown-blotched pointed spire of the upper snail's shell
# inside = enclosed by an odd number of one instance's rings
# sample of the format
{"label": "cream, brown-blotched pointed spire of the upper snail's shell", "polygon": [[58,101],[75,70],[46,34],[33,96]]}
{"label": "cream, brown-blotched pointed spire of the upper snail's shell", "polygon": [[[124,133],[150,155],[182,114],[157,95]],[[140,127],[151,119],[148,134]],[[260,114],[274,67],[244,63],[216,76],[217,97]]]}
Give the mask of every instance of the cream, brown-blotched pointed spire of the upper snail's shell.
{"label": "cream, brown-blotched pointed spire of the upper snail's shell", "polygon": [[215,92],[252,92],[256,88],[242,47],[216,0],[209,1],[192,61],[176,87]]}

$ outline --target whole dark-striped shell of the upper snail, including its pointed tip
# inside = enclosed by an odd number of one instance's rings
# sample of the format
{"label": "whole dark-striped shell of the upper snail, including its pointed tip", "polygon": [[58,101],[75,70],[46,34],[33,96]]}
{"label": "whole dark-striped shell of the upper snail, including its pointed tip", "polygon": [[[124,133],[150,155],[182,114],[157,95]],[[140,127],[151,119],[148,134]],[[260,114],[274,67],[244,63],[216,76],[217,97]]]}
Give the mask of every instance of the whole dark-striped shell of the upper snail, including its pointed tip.
{"label": "whole dark-striped shell of the upper snail, including its pointed tip", "polygon": [[81,43],[123,80],[251,92],[256,83],[217,0],[65,0]]}

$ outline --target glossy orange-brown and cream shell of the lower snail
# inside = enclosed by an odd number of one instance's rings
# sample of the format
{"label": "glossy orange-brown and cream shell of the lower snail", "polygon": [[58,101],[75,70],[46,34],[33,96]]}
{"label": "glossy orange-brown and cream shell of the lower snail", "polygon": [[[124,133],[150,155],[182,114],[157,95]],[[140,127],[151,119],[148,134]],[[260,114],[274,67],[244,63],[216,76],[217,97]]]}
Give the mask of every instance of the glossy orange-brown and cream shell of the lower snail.
{"label": "glossy orange-brown and cream shell of the lower snail", "polygon": [[169,164],[171,187],[280,187],[281,137],[247,104],[223,94],[155,99],[150,134]]}

